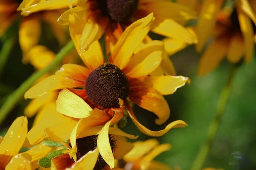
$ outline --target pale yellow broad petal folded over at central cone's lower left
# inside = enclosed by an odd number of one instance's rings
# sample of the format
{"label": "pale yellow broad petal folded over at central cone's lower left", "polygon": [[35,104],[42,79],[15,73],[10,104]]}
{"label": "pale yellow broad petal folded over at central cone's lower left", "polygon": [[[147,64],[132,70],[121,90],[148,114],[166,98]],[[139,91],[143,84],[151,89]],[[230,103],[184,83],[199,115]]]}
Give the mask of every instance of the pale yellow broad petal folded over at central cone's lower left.
{"label": "pale yellow broad petal folded over at central cone's lower left", "polygon": [[56,111],[73,118],[86,118],[93,109],[76,94],[64,88],[56,100]]}

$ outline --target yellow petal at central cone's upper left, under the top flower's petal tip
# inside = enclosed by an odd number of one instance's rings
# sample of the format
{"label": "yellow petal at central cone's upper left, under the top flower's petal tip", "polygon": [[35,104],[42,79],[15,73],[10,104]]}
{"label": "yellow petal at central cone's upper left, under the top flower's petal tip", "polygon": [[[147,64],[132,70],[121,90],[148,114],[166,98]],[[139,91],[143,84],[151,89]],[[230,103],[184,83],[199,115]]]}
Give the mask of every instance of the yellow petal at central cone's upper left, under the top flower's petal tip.
{"label": "yellow petal at central cone's upper left, under the top flower's petal tip", "polygon": [[90,70],[94,70],[104,64],[104,56],[98,40],[94,41],[88,50],[83,52],[81,59]]}

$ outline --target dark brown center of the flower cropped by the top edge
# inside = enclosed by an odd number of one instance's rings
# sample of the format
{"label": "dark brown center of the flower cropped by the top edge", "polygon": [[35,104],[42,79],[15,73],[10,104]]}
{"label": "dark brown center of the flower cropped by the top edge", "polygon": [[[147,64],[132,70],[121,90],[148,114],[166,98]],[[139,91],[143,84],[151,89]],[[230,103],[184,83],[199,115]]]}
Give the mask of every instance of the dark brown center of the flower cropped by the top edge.
{"label": "dark brown center of the flower cropped by the top edge", "polygon": [[102,14],[111,20],[121,23],[130,19],[135,11],[139,0],[96,0]]}

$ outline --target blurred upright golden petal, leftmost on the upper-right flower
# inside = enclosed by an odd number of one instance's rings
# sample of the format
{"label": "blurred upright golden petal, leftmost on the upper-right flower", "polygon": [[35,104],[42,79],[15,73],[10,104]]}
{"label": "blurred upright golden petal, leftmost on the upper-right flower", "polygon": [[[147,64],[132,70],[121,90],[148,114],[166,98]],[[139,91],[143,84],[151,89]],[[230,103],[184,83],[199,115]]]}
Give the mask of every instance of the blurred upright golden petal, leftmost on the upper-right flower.
{"label": "blurred upright golden petal, leftmost on the upper-right flower", "polygon": [[215,27],[217,14],[221,9],[224,0],[204,0],[197,24],[198,44],[197,51],[204,48]]}

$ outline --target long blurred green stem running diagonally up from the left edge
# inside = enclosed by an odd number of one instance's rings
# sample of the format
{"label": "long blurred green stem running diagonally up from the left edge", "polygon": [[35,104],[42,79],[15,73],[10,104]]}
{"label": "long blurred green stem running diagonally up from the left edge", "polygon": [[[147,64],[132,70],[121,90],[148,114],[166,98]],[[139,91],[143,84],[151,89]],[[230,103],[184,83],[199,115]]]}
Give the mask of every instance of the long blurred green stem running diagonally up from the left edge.
{"label": "long blurred green stem running diagonally up from the left edge", "polygon": [[74,48],[73,41],[70,41],[64,48],[61,49],[61,51],[55,56],[54,60],[51,64],[47,66],[47,68],[44,68],[42,70],[36,71],[34,74],[32,74],[25,82],[23,82],[22,85],[20,85],[19,88],[17,88],[16,91],[14,91],[6,100],[6,102],[3,104],[2,108],[0,108],[0,124],[3,122],[3,120],[6,118],[8,113],[12,110],[12,108],[19,102],[25,92],[34,84],[34,82],[47,72],[51,71],[55,67],[57,67],[61,61],[64,59],[64,57],[67,56],[67,54],[70,53]]}

